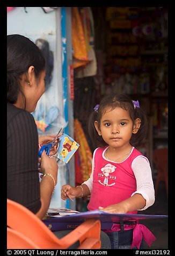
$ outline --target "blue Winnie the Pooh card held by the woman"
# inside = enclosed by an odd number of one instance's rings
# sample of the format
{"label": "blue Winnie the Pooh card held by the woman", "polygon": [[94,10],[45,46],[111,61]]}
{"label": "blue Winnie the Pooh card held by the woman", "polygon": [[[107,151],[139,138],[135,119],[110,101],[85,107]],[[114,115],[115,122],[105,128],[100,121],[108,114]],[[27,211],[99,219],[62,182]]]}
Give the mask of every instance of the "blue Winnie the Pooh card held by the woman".
{"label": "blue Winnie the Pooh card held by the woman", "polygon": [[60,144],[57,151],[57,157],[65,163],[68,163],[72,155],[76,152],[79,144],[67,134],[63,133],[59,138]]}

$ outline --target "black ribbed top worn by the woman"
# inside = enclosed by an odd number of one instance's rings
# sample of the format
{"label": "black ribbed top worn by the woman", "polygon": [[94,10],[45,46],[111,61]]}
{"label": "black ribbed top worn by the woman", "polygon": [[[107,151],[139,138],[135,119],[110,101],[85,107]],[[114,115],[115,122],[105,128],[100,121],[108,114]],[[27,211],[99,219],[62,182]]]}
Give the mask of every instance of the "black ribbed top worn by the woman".
{"label": "black ribbed top worn by the woman", "polygon": [[34,214],[41,207],[38,131],[30,112],[7,104],[7,198]]}

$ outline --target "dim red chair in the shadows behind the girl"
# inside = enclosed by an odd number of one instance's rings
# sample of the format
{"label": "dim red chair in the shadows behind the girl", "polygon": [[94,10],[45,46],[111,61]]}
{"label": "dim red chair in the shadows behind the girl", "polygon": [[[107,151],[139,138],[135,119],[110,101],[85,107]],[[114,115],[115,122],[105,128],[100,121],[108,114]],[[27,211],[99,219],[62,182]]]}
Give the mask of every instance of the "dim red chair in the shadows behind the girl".
{"label": "dim red chair in the shadows behind the girl", "polygon": [[155,196],[157,196],[159,182],[164,181],[166,187],[166,195],[168,197],[168,148],[156,148],[153,151],[152,161],[157,168]]}

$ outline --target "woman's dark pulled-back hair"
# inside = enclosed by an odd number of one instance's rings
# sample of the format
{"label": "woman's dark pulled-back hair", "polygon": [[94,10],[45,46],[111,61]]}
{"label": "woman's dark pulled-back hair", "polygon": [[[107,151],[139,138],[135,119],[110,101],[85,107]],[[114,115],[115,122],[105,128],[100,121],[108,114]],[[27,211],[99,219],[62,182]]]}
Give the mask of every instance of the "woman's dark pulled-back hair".
{"label": "woman's dark pulled-back hair", "polygon": [[28,68],[34,66],[35,76],[38,78],[45,69],[45,59],[42,52],[33,41],[20,34],[7,36],[7,102],[17,102],[19,91],[24,97],[20,86],[21,75],[27,73]]}

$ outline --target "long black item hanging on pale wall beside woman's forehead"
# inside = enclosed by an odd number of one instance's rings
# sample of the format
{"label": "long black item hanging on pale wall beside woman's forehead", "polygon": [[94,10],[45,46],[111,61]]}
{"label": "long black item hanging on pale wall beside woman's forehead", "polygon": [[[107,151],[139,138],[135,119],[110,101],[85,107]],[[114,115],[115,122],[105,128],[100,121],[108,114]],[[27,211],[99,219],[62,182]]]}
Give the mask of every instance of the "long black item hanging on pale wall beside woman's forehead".
{"label": "long black item hanging on pale wall beside woman's forehead", "polygon": [[35,44],[40,48],[45,61],[46,61],[46,77],[45,77],[45,90],[48,89],[48,86],[52,80],[52,71],[54,68],[54,56],[53,52],[49,49],[49,43],[48,41],[44,39],[37,39],[35,41]]}

